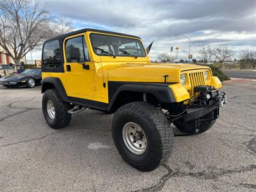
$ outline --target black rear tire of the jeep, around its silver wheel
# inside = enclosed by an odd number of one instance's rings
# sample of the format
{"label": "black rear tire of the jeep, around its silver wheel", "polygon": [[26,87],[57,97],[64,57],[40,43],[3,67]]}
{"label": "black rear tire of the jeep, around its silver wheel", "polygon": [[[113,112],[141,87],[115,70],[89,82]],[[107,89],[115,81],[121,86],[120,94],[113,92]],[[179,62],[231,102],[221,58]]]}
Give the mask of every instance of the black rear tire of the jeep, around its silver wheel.
{"label": "black rear tire of the jeep, around its silver wheel", "polygon": [[[52,101],[55,109],[54,118],[50,118],[47,112],[47,102],[48,100]],[[44,118],[47,124],[52,127],[52,129],[60,129],[65,127],[70,123],[71,114],[67,113],[68,109],[70,109],[70,104],[61,100],[56,90],[46,90],[42,99],[42,109],[44,113]]]}

